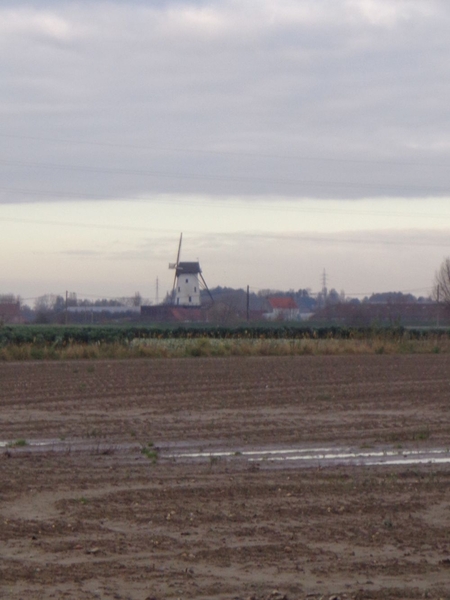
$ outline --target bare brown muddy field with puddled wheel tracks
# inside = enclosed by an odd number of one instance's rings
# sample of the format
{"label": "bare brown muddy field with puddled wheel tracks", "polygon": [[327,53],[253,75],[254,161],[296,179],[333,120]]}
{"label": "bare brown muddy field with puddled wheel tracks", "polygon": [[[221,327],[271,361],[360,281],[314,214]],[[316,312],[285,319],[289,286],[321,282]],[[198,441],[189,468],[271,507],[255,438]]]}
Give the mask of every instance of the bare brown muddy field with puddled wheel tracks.
{"label": "bare brown muddy field with puddled wheel tracks", "polygon": [[0,598],[450,598],[450,356],[5,363],[0,428]]}

